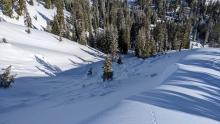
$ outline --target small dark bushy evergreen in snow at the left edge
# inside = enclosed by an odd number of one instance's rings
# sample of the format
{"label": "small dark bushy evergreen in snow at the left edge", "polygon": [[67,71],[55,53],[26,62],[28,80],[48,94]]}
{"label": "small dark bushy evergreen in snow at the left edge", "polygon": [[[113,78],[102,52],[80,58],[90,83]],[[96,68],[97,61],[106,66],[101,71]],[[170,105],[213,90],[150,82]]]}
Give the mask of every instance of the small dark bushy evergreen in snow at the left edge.
{"label": "small dark bushy evergreen in snow at the left edge", "polygon": [[11,66],[3,70],[3,74],[0,75],[0,87],[9,88],[15,80],[15,75],[11,74]]}

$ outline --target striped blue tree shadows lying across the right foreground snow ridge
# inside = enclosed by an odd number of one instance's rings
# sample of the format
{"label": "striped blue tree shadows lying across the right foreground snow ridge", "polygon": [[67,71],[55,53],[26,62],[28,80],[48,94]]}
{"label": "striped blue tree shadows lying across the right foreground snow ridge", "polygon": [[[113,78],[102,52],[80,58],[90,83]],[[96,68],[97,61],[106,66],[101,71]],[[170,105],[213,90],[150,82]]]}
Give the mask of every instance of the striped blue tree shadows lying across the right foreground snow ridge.
{"label": "striped blue tree shadows lying across the right foreground snow ridge", "polygon": [[[219,63],[208,60],[181,64],[220,71]],[[220,121],[220,76],[179,69],[159,88],[129,99]]]}

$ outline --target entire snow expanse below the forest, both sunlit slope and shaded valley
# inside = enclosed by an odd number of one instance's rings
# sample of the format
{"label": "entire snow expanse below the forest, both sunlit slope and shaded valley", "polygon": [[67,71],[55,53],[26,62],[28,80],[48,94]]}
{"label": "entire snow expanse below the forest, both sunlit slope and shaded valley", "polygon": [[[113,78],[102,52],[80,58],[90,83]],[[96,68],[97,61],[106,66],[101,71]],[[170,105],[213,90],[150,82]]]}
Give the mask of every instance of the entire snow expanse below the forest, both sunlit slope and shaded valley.
{"label": "entire snow expanse below the forest, both sunlit slope and shaded valley", "polygon": [[8,42],[0,43],[1,68],[18,74],[0,90],[2,124],[220,123],[220,49],[126,55],[103,83],[100,52],[14,24],[0,28]]}

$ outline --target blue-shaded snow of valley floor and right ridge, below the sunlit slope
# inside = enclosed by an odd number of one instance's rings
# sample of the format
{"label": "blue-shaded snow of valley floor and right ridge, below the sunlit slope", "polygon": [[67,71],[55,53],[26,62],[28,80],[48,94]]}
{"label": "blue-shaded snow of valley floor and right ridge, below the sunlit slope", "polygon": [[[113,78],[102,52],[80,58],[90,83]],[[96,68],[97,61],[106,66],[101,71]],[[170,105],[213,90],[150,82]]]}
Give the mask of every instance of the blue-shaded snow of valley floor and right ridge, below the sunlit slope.
{"label": "blue-shaded snow of valley floor and right ridge, below the sunlit slope", "polygon": [[102,84],[102,62],[49,78],[18,78],[11,89],[0,90],[0,123],[220,123],[220,49],[147,60],[128,55],[123,61],[114,64],[108,87]]}

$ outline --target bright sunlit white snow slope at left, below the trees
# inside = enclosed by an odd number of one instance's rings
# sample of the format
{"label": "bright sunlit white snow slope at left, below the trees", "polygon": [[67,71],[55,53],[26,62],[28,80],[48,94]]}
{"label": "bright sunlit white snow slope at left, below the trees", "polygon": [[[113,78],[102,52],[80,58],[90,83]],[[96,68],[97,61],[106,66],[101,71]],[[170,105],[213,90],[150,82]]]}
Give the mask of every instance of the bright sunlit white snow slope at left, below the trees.
{"label": "bright sunlit white snow slope at left, below the trees", "polygon": [[98,54],[91,48],[57,36],[25,27],[0,22],[0,68],[12,65],[13,73],[23,76],[54,76],[56,73],[78,67],[80,64],[99,61]]}

